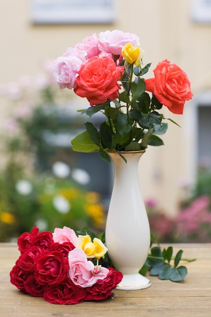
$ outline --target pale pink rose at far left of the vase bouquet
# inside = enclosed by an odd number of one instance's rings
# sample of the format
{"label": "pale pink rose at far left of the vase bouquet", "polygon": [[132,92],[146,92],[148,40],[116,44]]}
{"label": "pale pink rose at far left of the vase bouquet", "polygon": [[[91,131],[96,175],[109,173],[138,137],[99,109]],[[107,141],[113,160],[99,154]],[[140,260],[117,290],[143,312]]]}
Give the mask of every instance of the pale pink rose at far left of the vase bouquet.
{"label": "pale pink rose at far left of the vase bouquet", "polygon": [[53,76],[61,89],[72,89],[81,64],[86,63],[86,52],[68,48],[67,52],[53,63]]}

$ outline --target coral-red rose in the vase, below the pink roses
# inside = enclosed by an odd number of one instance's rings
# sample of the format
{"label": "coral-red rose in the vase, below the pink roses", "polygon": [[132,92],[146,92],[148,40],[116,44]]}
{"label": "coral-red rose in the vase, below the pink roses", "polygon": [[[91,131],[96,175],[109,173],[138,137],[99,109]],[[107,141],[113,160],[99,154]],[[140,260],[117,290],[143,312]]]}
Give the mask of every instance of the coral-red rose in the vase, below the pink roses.
{"label": "coral-red rose in the vase, below the pink roses", "polygon": [[81,65],[74,92],[86,97],[91,106],[114,100],[118,97],[120,85],[117,82],[123,69],[124,66],[116,66],[110,57],[92,57]]}

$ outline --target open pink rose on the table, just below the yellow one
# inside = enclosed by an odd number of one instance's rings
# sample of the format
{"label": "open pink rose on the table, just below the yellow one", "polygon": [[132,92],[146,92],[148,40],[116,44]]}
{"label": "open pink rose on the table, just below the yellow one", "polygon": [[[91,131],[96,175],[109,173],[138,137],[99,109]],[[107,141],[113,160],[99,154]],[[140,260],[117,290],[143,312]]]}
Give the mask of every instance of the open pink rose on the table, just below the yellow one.
{"label": "open pink rose on the table, just below the yellow one", "polygon": [[98,280],[106,278],[109,270],[106,267],[101,267],[97,272],[92,261],[87,259],[85,252],[80,248],[75,248],[69,252],[69,277],[75,285],[81,287],[89,287],[95,284]]}

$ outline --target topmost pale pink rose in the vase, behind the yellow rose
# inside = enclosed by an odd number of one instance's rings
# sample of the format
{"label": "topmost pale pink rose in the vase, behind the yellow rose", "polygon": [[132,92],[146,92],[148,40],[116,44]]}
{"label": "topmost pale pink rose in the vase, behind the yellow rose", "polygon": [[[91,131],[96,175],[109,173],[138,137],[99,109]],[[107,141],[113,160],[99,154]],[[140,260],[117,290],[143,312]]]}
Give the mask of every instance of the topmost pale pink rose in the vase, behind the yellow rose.
{"label": "topmost pale pink rose in the vase, behind the yellow rose", "polygon": [[136,34],[113,30],[100,33],[98,47],[101,51],[113,55],[121,55],[122,48],[125,44],[131,43],[137,47],[139,42],[140,39]]}

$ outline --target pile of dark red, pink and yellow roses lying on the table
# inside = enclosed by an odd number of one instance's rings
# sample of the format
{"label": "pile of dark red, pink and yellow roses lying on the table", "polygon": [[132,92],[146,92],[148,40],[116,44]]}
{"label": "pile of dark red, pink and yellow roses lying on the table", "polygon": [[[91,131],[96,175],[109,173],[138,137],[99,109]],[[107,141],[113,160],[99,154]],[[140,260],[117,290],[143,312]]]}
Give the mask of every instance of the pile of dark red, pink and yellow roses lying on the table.
{"label": "pile of dark red, pink and yellow roses lying on the table", "polygon": [[107,252],[100,239],[68,227],[38,231],[33,227],[18,238],[21,255],[10,272],[13,285],[53,304],[112,298],[123,275],[99,265]]}

